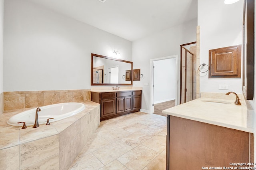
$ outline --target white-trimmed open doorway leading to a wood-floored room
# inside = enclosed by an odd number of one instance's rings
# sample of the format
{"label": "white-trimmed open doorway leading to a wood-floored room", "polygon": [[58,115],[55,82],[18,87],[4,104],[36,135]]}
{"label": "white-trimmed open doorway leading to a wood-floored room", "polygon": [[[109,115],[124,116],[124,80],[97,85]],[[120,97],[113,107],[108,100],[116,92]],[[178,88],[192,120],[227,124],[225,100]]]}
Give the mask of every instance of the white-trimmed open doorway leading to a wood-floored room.
{"label": "white-trimmed open doorway leading to a wood-floored room", "polygon": [[[177,105],[178,55],[150,59],[150,113]],[[173,103],[173,104],[170,104]],[[156,108],[158,113],[162,110]]]}

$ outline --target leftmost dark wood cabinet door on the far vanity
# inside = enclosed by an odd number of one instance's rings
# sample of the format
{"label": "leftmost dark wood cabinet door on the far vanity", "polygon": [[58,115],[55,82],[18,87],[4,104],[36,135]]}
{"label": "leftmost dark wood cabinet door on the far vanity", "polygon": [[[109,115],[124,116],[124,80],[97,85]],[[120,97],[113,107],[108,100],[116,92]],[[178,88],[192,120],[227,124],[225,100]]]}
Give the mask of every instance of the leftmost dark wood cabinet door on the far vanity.
{"label": "leftmost dark wood cabinet door on the far vanity", "polygon": [[116,114],[116,99],[101,100],[101,117],[107,117]]}

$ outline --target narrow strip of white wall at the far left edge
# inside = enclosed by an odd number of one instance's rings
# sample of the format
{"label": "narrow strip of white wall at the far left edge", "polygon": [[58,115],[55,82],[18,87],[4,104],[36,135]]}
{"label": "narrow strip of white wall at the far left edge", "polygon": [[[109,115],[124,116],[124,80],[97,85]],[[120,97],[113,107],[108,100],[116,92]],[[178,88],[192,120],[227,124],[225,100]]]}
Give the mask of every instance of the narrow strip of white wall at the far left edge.
{"label": "narrow strip of white wall at the far left edge", "polygon": [[[4,76],[4,0],[0,0],[0,94],[3,90],[3,76]],[[1,103],[0,103],[1,104]]]}

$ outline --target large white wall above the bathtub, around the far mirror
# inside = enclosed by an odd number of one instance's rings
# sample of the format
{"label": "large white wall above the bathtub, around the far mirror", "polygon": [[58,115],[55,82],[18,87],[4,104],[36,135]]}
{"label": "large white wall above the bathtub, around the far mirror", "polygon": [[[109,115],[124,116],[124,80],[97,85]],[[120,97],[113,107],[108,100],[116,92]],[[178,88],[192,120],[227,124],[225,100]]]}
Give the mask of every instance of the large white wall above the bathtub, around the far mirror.
{"label": "large white wall above the bathtub, around the far mirror", "polygon": [[4,91],[90,89],[90,54],[132,61],[132,42],[20,0],[4,4]]}

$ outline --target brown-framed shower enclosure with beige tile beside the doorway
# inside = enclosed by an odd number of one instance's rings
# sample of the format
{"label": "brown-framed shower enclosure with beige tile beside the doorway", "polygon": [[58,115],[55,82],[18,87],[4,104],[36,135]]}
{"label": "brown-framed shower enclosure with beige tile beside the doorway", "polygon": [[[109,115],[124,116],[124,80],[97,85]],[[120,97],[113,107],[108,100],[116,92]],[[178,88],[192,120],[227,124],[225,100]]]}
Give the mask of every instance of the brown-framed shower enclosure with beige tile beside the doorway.
{"label": "brown-framed shower enclosure with beige tile beside the doorway", "polygon": [[196,99],[196,42],[180,45],[180,104]]}

